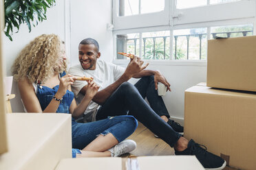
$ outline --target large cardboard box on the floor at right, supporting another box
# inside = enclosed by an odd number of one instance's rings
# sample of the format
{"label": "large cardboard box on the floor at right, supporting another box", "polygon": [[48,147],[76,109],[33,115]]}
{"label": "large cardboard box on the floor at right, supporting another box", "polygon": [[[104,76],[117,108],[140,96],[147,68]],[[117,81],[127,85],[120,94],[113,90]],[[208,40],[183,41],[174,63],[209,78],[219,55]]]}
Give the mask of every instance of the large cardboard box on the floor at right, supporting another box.
{"label": "large cardboard box on the floor at right, supporting another box", "polygon": [[185,91],[184,137],[231,167],[256,167],[256,93],[193,86]]}

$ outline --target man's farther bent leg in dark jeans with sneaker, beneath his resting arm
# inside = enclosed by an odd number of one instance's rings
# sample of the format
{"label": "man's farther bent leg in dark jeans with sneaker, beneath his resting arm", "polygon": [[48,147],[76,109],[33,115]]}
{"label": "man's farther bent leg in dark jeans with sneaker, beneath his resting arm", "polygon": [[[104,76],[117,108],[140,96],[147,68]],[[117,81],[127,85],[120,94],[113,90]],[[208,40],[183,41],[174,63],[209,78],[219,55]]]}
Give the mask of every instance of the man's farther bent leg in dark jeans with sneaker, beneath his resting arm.
{"label": "man's farther bent leg in dark jeans with sneaker, beneath his resting arm", "polygon": [[142,77],[134,86],[136,86],[143,99],[147,97],[147,101],[149,101],[150,107],[156,112],[156,114],[158,114],[165,122],[171,125],[173,130],[183,133],[182,125],[169,119],[169,112],[164,104],[164,101],[162,100],[162,97],[158,95],[158,90],[155,88],[153,75]]}

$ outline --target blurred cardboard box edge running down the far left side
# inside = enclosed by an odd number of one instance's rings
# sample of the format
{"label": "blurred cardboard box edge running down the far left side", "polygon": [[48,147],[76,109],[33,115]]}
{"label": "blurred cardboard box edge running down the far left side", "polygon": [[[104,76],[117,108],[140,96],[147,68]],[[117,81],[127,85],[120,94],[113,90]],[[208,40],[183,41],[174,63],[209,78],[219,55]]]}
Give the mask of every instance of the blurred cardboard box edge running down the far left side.
{"label": "blurred cardboard box edge running down the far left side", "polygon": [[2,32],[4,26],[3,0],[0,0],[0,154],[8,151],[6,138],[6,97],[3,93]]}

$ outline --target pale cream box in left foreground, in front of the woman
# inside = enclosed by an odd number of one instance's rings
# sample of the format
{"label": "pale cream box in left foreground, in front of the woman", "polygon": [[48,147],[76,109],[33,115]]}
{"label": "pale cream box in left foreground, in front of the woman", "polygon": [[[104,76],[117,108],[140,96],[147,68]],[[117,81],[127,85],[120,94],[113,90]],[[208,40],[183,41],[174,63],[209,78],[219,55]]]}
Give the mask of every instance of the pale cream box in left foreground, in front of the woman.
{"label": "pale cream box in left foreground, in front of the woman", "polygon": [[6,124],[9,151],[0,169],[52,170],[72,158],[71,114],[11,113]]}

